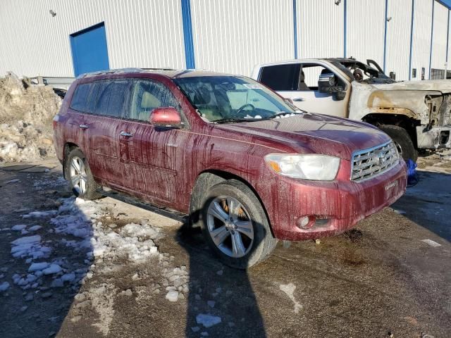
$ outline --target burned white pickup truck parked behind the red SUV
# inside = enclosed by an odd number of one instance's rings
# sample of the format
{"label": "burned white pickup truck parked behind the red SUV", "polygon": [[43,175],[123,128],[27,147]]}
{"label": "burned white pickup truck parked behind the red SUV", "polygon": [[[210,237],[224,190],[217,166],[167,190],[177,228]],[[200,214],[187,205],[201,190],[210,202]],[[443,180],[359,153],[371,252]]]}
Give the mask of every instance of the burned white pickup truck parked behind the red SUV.
{"label": "burned white pickup truck parked behind the red SUV", "polygon": [[404,159],[451,147],[451,80],[396,82],[375,61],[354,58],[268,63],[252,77],[304,111],[376,125]]}

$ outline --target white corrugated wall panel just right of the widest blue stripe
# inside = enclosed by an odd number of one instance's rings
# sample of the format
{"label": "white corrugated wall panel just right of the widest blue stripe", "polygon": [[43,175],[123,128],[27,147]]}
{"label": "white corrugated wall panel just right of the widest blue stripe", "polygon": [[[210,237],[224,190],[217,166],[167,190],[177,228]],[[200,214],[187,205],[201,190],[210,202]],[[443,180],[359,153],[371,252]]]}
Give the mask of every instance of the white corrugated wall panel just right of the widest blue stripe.
{"label": "white corrugated wall panel just right of the widest blue stripe", "polygon": [[191,0],[196,68],[250,75],[293,58],[292,11],[291,0]]}

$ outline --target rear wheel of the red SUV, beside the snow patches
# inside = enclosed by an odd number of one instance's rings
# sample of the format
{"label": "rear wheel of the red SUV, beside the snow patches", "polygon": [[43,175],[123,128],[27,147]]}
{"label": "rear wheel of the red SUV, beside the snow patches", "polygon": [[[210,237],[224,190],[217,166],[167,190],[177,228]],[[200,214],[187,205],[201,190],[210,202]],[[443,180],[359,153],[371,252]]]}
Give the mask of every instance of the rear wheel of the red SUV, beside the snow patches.
{"label": "rear wheel of the red SUV, beside the snow patches", "polygon": [[[91,170],[87,164],[86,156],[80,148],[74,148],[66,158],[66,173],[70,188],[80,199],[92,200],[102,197],[97,192],[99,185],[94,181]],[[78,177],[77,180],[75,177]]]}

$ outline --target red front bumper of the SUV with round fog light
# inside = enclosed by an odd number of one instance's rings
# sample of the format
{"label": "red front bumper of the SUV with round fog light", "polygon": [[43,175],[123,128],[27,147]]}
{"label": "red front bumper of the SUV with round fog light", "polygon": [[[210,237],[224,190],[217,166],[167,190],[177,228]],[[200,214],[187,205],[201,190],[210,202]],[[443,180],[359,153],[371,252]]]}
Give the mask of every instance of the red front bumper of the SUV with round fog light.
{"label": "red front bumper of the SUV with round fog light", "polygon": [[[342,169],[350,173],[350,163],[346,162]],[[340,234],[393,204],[404,194],[406,184],[406,165],[402,160],[386,173],[364,182],[302,182],[281,177],[278,210],[268,212],[273,234],[289,241]],[[305,217],[309,218],[309,229],[300,226]]]}

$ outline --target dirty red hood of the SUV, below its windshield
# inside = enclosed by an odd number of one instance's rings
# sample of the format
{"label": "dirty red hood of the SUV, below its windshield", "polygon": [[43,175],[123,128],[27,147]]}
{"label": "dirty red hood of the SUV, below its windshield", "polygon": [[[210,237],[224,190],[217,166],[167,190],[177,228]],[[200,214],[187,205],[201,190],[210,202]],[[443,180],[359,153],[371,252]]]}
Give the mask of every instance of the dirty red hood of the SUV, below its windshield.
{"label": "dirty red hood of the SUV, below its windshield", "polygon": [[347,160],[353,151],[390,141],[387,134],[367,123],[314,113],[216,127],[248,134],[257,144],[265,139],[281,151],[324,154]]}

